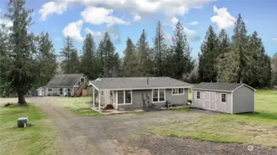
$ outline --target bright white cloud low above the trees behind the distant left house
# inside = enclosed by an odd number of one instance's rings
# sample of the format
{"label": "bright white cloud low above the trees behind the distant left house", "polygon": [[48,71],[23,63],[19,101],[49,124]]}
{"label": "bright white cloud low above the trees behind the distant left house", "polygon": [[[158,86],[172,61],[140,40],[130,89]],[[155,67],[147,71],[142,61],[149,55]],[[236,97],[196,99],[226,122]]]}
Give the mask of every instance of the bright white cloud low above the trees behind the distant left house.
{"label": "bright white cloud low above the trees behind the distant left house", "polygon": [[82,41],[83,40],[83,37],[81,35],[82,24],[83,24],[83,21],[79,20],[66,25],[66,27],[62,31],[64,34],[64,37],[71,37],[75,41]]}

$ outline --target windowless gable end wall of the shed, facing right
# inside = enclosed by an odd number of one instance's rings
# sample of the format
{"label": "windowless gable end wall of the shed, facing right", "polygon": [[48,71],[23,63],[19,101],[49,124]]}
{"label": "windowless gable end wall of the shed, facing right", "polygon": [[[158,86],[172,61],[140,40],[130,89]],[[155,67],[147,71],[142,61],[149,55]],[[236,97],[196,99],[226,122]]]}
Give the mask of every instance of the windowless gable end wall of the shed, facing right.
{"label": "windowless gable end wall of the shed, facing right", "polygon": [[243,85],[233,92],[233,113],[254,112],[255,92]]}

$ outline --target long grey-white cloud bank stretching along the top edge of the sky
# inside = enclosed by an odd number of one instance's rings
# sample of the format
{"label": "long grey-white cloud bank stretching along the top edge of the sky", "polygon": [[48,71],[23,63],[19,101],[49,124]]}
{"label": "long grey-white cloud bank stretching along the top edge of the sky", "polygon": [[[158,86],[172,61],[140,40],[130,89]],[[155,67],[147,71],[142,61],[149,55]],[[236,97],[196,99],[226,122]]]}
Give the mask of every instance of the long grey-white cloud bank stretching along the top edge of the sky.
{"label": "long grey-white cloud bank stretching along the top edge of the sky", "polygon": [[39,14],[46,19],[51,14],[62,14],[69,6],[102,6],[111,10],[138,14],[165,14],[168,17],[184,16],[191,8],[200,9],[215,0],[52,0],[44,4]]}

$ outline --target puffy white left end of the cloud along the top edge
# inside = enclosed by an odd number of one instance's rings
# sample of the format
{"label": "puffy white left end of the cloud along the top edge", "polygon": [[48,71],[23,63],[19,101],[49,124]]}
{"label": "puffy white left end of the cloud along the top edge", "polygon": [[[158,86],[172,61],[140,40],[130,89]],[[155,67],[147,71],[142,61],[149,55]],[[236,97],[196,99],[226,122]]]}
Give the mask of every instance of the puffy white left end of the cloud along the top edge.
{"label": "puffy white left end of the cloud along the top edge", "polygon": [[39,14],[42,14],[40,19],[45,21],[48,16],[51,14],[62,14],[67,9],[67,2],[66,1],[49,1],[45,3],[41,9],[39,9]]}

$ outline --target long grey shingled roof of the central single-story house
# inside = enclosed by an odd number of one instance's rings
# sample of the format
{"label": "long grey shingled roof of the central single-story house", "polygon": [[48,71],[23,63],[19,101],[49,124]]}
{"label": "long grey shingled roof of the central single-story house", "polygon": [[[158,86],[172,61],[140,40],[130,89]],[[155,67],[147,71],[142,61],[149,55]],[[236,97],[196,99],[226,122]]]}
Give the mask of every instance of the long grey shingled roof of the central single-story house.
{"label": "long grey shingled roof of the central single-story house", "polygon": [[172,79],[170,77],[123,77],[123,78],[98,78],[90,84],[101,90],[144,90],[161,87],[193,87],[189,83]]}

